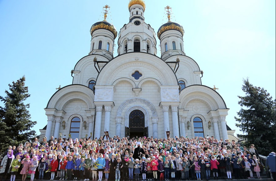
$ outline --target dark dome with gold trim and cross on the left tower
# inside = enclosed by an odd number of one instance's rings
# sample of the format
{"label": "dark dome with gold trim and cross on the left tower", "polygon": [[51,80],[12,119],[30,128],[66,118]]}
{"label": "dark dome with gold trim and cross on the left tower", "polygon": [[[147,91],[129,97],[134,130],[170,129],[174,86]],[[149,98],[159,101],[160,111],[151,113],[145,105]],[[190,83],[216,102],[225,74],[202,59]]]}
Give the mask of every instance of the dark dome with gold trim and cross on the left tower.
{"label": "dark dome with gold trim and cross on the left tower", "polygon": [[109,7],[108,7],[108,5],[106,5],[103,8],[105,8],[105,10],[104,10],[104,19],[103,19],[103,21],[96,22],[91,26],[90,34],[91,34],[91,36],[93,36],[94,31],[99,30],[99,29],[106,29],[106,30],[111,31],[113,33],[114,39],[115,39],[117,37],[117,30],[112,24],[110,24],[106,20],[107,14],[108,14],[107,8],[109,8]]}

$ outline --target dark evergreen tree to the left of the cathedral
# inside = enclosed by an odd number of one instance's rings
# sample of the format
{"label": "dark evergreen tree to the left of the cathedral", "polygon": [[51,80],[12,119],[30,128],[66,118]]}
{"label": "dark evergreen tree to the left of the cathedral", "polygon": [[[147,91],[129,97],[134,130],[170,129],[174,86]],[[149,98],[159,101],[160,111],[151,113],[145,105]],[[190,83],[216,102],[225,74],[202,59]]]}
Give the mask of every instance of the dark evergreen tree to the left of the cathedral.
{"label": "dark evergreen tree to the left of the cathedral", "polygon": [[25,76],[9,84],[9,90],[5,91],[6,97],[0,96],[4,104],[0,106],[0,153],[9,145],[18,145],[33,137],[35,131],[31,128],[37,123],[31,121],[30,104],[24,103],[30,97],[28,87],[25,87]]}

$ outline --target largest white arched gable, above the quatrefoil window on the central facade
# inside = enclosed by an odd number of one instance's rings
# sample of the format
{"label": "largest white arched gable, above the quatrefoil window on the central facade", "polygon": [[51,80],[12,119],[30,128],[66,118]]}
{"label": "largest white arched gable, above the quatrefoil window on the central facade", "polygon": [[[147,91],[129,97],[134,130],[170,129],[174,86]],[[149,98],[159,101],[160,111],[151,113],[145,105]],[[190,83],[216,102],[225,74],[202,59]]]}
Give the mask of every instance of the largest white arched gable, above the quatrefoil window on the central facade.
{"label": "largest white arched gable, above the quatrefoil window on the central facade", "polygon": [[[123,54],[109,61],[101,69],[96,85],[112,85],[118,79],[118,74],[124,69],[137,67],[150,69],[152,73],[156,74],[162,85],[178,85],[173,69],[166,62],[154,55],[141,52]],[[125,74],[125,76],[128,75]],[[152,77],[152,75],[148,77]],[[145,78],[147,78],[146,75]]]}

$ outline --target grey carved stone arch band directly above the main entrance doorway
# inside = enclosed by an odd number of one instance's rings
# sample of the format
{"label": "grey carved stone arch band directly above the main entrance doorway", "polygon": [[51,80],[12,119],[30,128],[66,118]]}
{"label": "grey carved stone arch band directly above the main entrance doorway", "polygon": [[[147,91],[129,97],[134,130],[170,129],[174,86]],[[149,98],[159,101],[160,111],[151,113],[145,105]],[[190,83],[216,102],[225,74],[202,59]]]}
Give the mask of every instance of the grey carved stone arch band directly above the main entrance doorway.
{"label": "grey carved stone arch band directly above the main entrance doorway", "polygon": [[124,101],[124,102],[121,104],[121,106],[118,108],[118,111],[117,111],[116,116],[121,117],[121,116],[122,116],[122,112],[123,112],[123,110],[125,109],[125,107],[126,107],[128,104],[136,103],[136,102],[140,102],[140,103],[143,103],[143,104],[147,105],[147,106],[149,107],[150,111],[152,112],[153,117],[158,117],[158,116],[157,116],[156,109],[155,109],[155,107],[153,106],[153,104],[152,104],[151,102],[149,102],[148,100],[143,99],[143,98],[130,98],[130,99]]}

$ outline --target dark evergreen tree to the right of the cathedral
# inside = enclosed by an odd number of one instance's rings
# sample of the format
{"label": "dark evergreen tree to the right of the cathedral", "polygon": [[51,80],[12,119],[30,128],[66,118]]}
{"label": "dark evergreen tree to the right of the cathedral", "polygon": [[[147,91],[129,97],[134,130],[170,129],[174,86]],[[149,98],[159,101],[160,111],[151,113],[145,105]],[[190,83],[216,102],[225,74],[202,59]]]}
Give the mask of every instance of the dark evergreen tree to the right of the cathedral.
{"label": "dark evergreen tree to the right of the cathedral", "polygon": [[244,139],[245,145],[254,144],[262,155],[276,150],[275,99],[260,87],[254,87],[248,79],[243,79],[245,96],[238,96],[238,104],[242,107],[235,117],[236,126],[245,134],[238,135]]}

